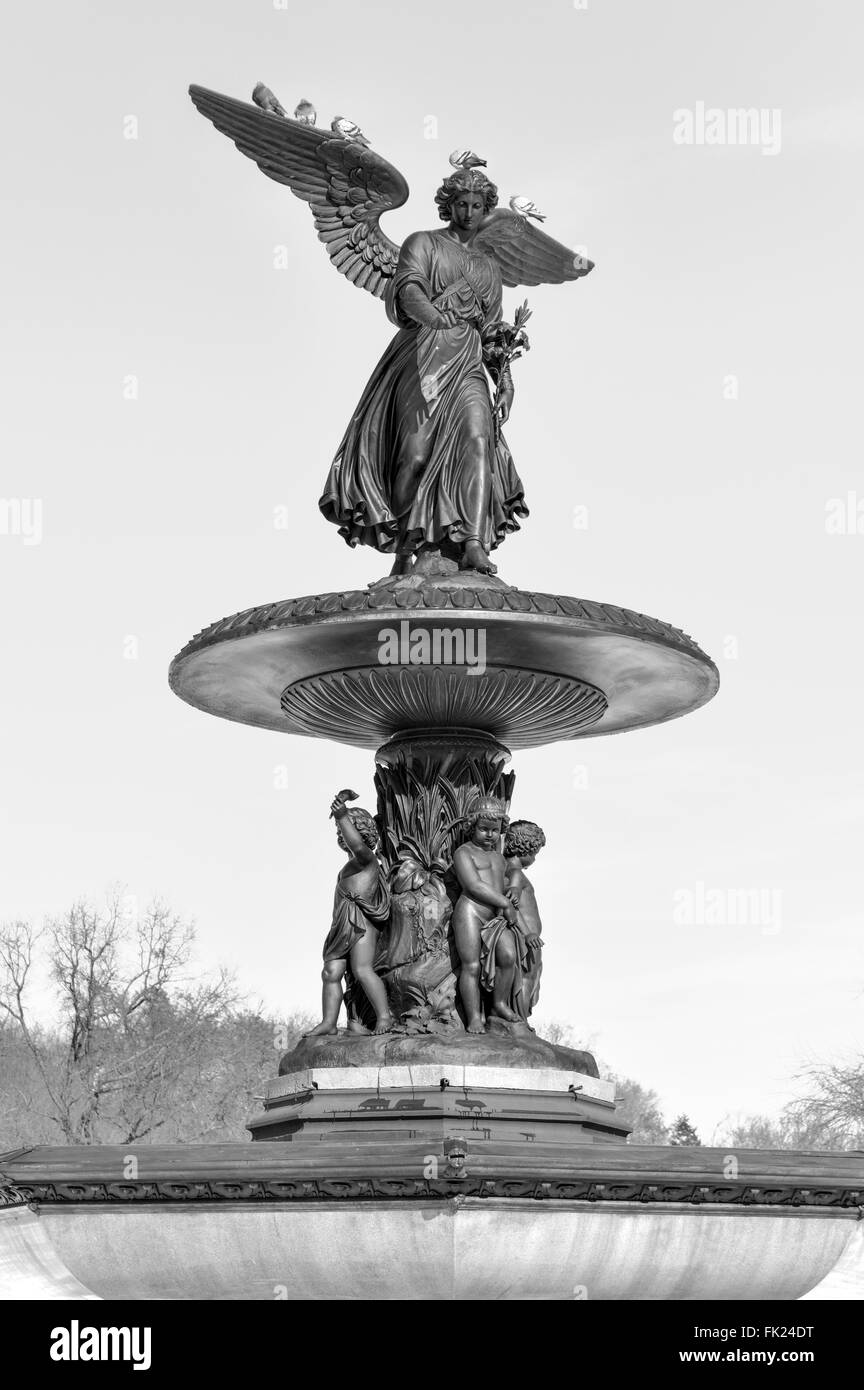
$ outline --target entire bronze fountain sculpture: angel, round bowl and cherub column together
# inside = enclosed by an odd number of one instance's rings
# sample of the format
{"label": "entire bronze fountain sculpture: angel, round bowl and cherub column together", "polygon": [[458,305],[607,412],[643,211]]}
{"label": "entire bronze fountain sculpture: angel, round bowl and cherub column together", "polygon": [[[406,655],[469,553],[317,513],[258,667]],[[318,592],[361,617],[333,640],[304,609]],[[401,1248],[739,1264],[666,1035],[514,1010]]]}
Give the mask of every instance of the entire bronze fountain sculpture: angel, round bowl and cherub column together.
{"label": "entire bronze fountain sculpture: angel, round bowl and cherub column together", "polygon": [[[375,749],[376,816],[349,809],[350,790],[331,806],[347,863],[324,948],[322,1017],[281,1073],[456,1061],[597,1076],[588,1054],[546,1044],[528,1024],[543,942],[526,870],[545,835],[533,821],[508,824],[510,755],[663,723],[706,703],[718,674],[668,624],[517,589],[495,573],[490,556],[528,514],[503,427],[531,311],[525,302],[504,321],[503,289],[575,281],[592,263],[536,225],[545,213],[525,193],[499,207],[471,149],[450,154],[436,229],[399,246],[381,221],[408,186],[356,121],[319,126],[306,97],[292,117],[264,83],[251,104],[197,86],[190,96],[308,204],[332,264],[383,300],[394,327],[319,500],[350,546],[393,559],[390,577],[232,614],[171,667],[172,688],[197,709]],[[333,325],[317,385],[326,391],[354,354]],[[432,653],[446,634],[450,655],[457,638],[463,655],[447,660],[442,645],[440,660],[414,660],[411,638],[407,657],[400,639],[399,660],[383,660],[385,635],[410,627]],[[468,637],[482,638],[482,663],[463,660]]]}

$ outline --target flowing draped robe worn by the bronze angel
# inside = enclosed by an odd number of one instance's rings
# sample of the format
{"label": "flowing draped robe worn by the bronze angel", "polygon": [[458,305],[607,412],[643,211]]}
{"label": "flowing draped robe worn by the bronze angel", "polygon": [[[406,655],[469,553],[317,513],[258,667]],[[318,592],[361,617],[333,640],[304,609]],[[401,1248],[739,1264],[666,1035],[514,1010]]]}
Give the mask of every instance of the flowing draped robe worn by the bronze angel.
{"label": "flowing draped robe worn by the bronze angel", "polygon": [[[417,324],[400,304],[408,285],[458,324]],[[407,553],[476,538],[489,552],[528,516],[507,442],[500,431],[496,438],[483,367],[501,318],[497,263],[446,231],[415,232],[403,243],[386,310],[399,332],[351,417],[321,512],[349,545]],[[478,434],[482,464],[470,446]]]}

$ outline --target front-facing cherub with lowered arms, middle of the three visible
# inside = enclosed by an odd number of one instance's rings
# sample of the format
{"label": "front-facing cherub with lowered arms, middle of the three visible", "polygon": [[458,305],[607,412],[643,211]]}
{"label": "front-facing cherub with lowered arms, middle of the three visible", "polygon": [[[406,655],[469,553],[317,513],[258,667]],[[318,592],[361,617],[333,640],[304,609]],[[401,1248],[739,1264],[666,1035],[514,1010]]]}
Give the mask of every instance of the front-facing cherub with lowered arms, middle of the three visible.
{"label": "front-facing cherub with lowered arms, middle of the three visible", "polygon": [[468,1033],[483,1033],[481,987],[492,995],[489,1012],[522,1023],[524,948],[517,931],[518,892],[506,884],[500,851],[507,816],[497,796],[481,796],[470,821],[471,838],[453,855],[461,892],[453,909],[460,958],[458,991]]}

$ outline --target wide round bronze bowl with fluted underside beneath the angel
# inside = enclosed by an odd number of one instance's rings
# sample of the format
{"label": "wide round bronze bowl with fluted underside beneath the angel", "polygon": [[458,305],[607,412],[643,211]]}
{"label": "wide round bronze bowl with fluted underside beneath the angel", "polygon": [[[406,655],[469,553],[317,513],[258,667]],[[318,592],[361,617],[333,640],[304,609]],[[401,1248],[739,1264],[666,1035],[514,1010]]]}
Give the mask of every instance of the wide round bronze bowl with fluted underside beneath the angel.
{"label": "wide round bronze bowl with fluted underside beneath the angel", "polygon": [[[382,634],[404,662],[382,662]],[[171,666],[172,689],[196,709],[360,748],[426,727],[483,730],[511,749],[621,733],[688,714],[718,684],[710,657],[667,623],[504,585],[261,605],[206,628]]]}

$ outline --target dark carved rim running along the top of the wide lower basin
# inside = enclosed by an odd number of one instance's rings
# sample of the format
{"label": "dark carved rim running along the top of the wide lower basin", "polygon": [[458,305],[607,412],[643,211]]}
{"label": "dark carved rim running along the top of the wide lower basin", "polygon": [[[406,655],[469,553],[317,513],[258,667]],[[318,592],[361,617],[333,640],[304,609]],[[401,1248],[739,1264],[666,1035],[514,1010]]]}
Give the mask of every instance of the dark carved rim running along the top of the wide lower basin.
{"label": "dark carved rim running along the top of the wide lower basin", "polygon": [[[321,1094],[321,1093],[318,1093]],[[407,1122],[408,1123],[408,1122]],[[417,1119],[410,1120],[415,1126]],[[396,1138],[396,1136],[394,1136]],[[131,1159],[135,1176],[125,1176]],[[864,1209],[858,1154],[618,1143],[520,1143],[406,1131],[364,1152],[356,1137],[304,1143],[69,1145],[3,1155],[0,1207],[357,1202],[457,1198],[764,1209]],[[432,1176],[429,1169],[432,1168]]]}

